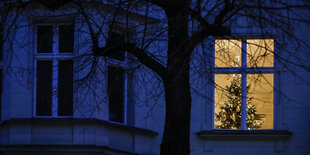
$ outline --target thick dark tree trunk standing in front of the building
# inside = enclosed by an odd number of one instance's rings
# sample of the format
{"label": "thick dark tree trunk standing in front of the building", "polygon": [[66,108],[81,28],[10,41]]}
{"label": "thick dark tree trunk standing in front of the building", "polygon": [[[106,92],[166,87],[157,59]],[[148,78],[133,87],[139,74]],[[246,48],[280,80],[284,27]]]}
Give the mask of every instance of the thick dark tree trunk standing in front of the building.
{"label": "thick dark tree trunk standing in front of the building", "polygon": [[[173,3],[175,2],[175,3]],[[168,18],[168,62],[165,86],[166,118],[161,155],[189,155],[191,93],[187,0],[173,1],[166,8]]]}

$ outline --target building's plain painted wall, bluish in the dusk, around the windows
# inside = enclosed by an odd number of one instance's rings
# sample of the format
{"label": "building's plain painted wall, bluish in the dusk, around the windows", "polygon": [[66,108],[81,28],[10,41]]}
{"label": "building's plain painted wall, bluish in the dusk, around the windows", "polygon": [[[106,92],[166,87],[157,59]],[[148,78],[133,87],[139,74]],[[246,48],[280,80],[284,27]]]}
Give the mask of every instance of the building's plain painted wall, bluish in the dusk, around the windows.
{"label": "building's plain painted wall, bluish in the dusk, around the windows", "polygon": [[[25,18],[24,18],[25,17]],[[27,17],[27,18],[26,18]],[[27,25],[29,23],[28,16],[21,16],[18,19],[19,25]],[[77,27],[85,25],[77,24]],[[298,25],[295,29],[295,34],[302,38],[305,42],[310,42],[309,25]],[[106,29],[107,27],[105,27]],[[14,47],[9,48],[6,42],[4,48],[7,50],[4,57],[6,74],[4,75],[4,91],[2,96],[2,121],[11,118],[32,118],[33,115],[33,51],[34,51],[34,36],[33,27],[19,27],[15,33]],[[239,29],[240,32],[248,32],[244,29]],[[238,29],[233,32],[238,33]],[[85,42],[84,39],[89,39],[87,34],[77,33],[76,48],[80,51],[85,51],[88,46],[80,46]],[[208,40],[210,41],[210,40]],[[282,41],[282,40],[281,40]],[[305,63],[309,63],[309,48],[294,51],[295,44],[291,44],[291,40],[283,41],[288,44],[286,49],[291,49],[291,52],[296,54]],[[164,44],[161,44],[165,47]],[[164,48],[161,47],[161,48]],[[159,48],[160,49],[160,48]],[[151,48],[151,51],[159,50],[156,46]],[[199,48],[198,48],[199,49]],[[207,49],[211,50],[212,49]],[[276,50],[280,50],[277,49]],[[78,54],[80,54],[78,52]],[[197,50],[199,53],[199,50]],[[282,52],[282,51],[278,51]],[[286,53],[284,53],[285,55]],[[195,59],[201,58],[195,57]],[[292,59],[293,62],[300,60]],[[195,63],[195,60],[193,60]],[[104,60],[100,60],[102,67],[105,66]],[[198,90],[201,95],[193,92],[192,103],[192,122],[191,122],[191,151],[192,155],[201,154],[308,154],[310,149],[310,73],[304,71],[294,65],[289,64],[289,68],[293,69],[291,74],[289,70],[283,66],[279,66],[279,90],[281,95],[275,105],[275,126],[277,130],[289,130],[293,134],[291,138],[283,142],[275,141],[205,141],[199,138],[196,133],[201,130],[211,129],[210,127],[210,108],[207,108],[207,103],[210,103],[205,96],[210,95],[207,89],[207,82],[204,77],[197,77],[195,74],[191,76],[192,87]],[[205,67],[201,71],[205,71]],[[87,73],[89,68],[77,73],[76,78],[82,77]],[[96,92],[101,92],[104,97],[106,80],[102,74],[101,84],[93,83],[92,87],[96,88]],[[302,77],[303,80],[296,78]],[[135,117],[134,126],[144,129],[150,129],[158,132],[158,136],[150,138],[148,136],[131,134],[125,131],[108,129],[96,125],[9,125],[1,126],[0,144],[81,144],[81,145],[98,145],[109,146],[112,148],[134,151],[142,154],[159,154],[159,147],[163,133],[165,109],[163,86],[158,84],[158,81],[150,70],[141,67],[134,73],[134,101],[135,101]],[[198,79],[198,80],[197,80]],[[144,82],[143,82],[144,81]],[[95,98],[91,94],[86,94],[87,99],[82,101],[85,91],[78,90],[78,95],[75,97],[74,118],[97,118],[102,120],[108,119],[107,100],[103,99],[102,103],[96,108],[92,103]],[[155,96],[155,97],[154,97]],[[97,98],[98,99],[98,98]],[[156,101],[154,101],[156,99]],[[95,107],[95,108],[94,108]],[[93,110],[95,109],[95,111]],[[212,123],[212,122],[211,122]],[[177,129],[176,129],[177,130]],[[281,148],[280,151],[277,148]],[[208,150],[208,152],[207,152]],[[210,152],[211,150],[211,152]]]}

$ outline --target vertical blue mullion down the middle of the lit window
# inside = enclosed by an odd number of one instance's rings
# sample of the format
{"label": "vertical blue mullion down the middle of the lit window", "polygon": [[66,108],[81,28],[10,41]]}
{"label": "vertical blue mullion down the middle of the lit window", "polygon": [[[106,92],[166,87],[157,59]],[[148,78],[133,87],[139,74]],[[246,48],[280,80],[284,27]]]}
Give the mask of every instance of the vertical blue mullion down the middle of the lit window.
{"label": "vertical blue mullion down the middle of the lit window", "polygon": [[246,109],[247,109],[247,105],[246,105],[246,97],[247,97],[247,75],[246,72],[244,72],[246,70],[246,62],[247,62],[247,52],[246,52],[246,40],[242,40],[242,47],[241,47],[241,66],[242,66],[242,70],[243,72],[241,73],[241,130],[246,130],[247,126],[246,126]]}

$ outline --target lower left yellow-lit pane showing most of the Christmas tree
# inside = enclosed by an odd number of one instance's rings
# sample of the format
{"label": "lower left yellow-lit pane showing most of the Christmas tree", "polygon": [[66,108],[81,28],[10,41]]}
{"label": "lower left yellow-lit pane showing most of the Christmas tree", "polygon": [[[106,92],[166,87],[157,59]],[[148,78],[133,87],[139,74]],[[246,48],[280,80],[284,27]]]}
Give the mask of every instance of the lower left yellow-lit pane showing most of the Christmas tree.
{"label": "lower left yellow-lit pane showing most of the Christmas tree", "polygon": [[214,127],[241,128],[241,75],[215,74]]}

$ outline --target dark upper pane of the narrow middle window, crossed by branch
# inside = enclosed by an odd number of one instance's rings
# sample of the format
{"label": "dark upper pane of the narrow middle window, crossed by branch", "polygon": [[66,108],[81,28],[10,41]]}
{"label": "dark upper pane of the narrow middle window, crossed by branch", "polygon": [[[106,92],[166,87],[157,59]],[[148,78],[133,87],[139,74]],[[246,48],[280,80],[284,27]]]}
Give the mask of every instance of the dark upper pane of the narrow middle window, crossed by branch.
{"label": "dark upper pane of the narrow middle window, crossed by branch", "polygon": [[[109,32],[107,40],[107,47],[118,46],[125,42],[125,36],[117,32]],[[124,60],[124,51],[113,51],[114,53],[109,57],[117,60]]]}

